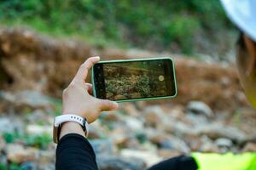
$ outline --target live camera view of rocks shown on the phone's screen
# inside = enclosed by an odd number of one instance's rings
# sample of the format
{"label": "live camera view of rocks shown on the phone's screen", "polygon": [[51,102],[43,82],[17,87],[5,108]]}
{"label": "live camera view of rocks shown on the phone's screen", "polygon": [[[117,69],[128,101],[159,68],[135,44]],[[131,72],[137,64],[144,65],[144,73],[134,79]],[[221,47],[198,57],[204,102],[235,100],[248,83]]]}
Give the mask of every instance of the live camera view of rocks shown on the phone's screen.
{"label": "live camera view of rocks shown on the phone's screen", "polygon": [[106,99],[143,99],[175,94],[171,59],[108,63],[102,67]]}

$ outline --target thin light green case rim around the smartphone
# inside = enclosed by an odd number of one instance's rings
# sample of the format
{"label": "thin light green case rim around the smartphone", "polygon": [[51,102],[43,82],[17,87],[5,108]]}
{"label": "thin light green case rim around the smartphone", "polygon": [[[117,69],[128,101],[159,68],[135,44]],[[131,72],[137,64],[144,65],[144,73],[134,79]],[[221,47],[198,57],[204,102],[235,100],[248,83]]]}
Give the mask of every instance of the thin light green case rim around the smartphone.
{"label": "thin light green case rim around the smartphone", "polygon": [[[172,71],[173,71],[173,78],[174,78],[174,86],[175,86],[175,94],[167,95],[162,97],[150,97],[150,98],[141,98],[141,99],[120,99],[114,100],[117,103],[122,102],[130,102],[130,101],[140,101],[140,100],[152,100],[152,99],[172,99],[177,96],[177,81],[176,81],[176,74],[175,74],[175,65],[171,57],[157,57],[157,58],[147,58],[147,59],[114,59],[114,60],[107,60],[107,61],[99,61],[99,64],[106,64],[106,63],[120,63],[120,62],[129,62],[129,61],[148,61],[148,60],[156,60],[156,59],[170,59],[172,62]],[[91,68],[91,83],[92,83],[92,94],[96,97],[96,84],[95,84],[95,77],[94,77],[94,66]]]}

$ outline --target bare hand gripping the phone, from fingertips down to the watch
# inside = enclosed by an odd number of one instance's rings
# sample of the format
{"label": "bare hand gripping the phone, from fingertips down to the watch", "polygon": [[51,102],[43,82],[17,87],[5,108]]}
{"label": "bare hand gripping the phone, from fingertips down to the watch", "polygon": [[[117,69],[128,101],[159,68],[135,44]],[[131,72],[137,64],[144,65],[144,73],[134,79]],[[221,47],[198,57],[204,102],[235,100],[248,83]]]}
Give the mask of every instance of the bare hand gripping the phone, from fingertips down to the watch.
{"label": "bare hand gripping the phone, from fingertips down to the watch", "polygon": [[90,68],[100,57],[86,59],[73,81],[62,94],[62,114],[74,114],[86,118],[87,122],[95,122],[102,111],[116,110],[119,105],[108,99],[96,99],[92,94],[92,86],[85,79]]}

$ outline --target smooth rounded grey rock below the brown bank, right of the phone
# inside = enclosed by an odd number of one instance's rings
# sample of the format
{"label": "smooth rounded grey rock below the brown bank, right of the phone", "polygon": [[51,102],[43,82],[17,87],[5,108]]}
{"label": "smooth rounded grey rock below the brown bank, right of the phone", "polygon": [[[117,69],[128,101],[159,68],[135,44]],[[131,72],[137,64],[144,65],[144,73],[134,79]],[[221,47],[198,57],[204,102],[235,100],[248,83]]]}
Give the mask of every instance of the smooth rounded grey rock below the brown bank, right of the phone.
{"label": "smooth rounded grey rock below the brown bank, right of the phone", "polygon": [[207,117],[213,116],[211,108],[201,101],[190,101],[187,106],[187,112],[194,114],[202,114]]}

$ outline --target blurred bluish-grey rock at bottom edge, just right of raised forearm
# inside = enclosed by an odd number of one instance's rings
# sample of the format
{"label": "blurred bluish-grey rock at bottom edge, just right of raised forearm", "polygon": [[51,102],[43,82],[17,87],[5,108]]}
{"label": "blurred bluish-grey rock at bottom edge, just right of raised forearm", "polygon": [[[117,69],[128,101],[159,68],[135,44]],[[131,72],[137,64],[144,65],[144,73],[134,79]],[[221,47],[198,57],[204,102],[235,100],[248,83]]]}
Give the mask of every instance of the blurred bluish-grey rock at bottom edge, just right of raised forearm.
{"label": "blurred bluish-grey rock at bottom edge, just right of raised forearm", "polygon": [[143,170],[146,168],[144,161],[140,158],[127,159],[123,156],[100,155],[96,156],[96,161],[100,170]]}

